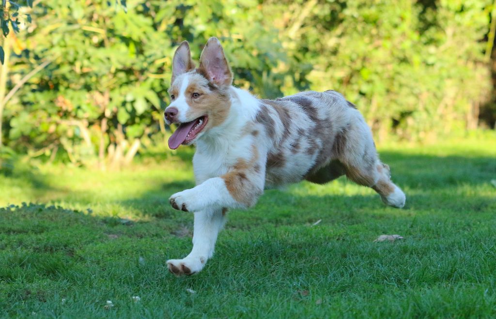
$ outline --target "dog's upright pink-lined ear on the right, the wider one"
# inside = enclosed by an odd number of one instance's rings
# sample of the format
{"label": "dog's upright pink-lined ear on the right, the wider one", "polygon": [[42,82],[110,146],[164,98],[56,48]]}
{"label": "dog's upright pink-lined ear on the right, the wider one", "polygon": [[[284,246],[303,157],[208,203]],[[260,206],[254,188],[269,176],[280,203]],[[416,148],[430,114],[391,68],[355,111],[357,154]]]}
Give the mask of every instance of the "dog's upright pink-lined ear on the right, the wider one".
{"label": "dog's upright pink-lined ear on the right, the wider one", "polygon": [[222,50],[219,39],[215,37],[208,39],[205,48],[203,48],[199,69],[214,84],[231,85],[233,83],[233,74],[227,63],[224,50]]}

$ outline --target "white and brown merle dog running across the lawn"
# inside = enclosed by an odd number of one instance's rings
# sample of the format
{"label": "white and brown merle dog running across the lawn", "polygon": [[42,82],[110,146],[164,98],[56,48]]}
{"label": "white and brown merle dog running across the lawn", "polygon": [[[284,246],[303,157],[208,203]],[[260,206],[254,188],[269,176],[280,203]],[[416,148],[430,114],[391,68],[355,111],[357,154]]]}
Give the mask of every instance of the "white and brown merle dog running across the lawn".
{"label": "white and brown merle dog running across the lawn", "polygon": [[[346,174],[371,187],[390,206],[405,194],[377,156],[372,134],[357,108],[339,93],[302,92],[259,100],[232,86],[219,41],[211,38],[198,68],[187,42],[173,59],[171,105],[166,122],[202,121],[183,144],[194,143],[196,185],[171,196],[171,205],[194,213],[193,249],[167,261],[176,274],[200,271],[214,252],[229,208],[255,205],[263,190],[306,179],[326,183]],[[205,124],[206,122],[206,124]],[[192,137],[191,137],[191,136]]]}

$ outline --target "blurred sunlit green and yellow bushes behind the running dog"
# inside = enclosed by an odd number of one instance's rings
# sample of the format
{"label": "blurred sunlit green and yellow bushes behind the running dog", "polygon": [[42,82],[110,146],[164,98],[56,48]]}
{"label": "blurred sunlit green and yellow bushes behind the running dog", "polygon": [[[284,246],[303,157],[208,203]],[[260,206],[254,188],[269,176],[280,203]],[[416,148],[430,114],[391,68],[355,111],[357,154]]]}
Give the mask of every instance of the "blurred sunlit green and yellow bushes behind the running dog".
{"label": "blurred sunlit green and yellow bushes behind the running dog", "polygon": [[236,86],[339,91],[379,142],[495,126],[493,0],[5,2],[1,27],[17,13],[19,30],[1,44],[4,158],[104,168],[166,152],[172,55],[187,40],[197,59],[211,36]]}

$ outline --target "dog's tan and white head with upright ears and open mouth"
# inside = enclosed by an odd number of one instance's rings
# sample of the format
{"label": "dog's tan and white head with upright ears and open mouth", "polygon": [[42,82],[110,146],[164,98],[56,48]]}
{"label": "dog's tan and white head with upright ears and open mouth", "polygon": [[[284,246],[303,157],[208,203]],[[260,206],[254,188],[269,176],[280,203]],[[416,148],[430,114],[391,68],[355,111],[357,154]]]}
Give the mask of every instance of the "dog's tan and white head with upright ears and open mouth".
{"label": "dog's tan and white head with upright ears and open mouth", "polygon": [[189,45],[184,41],[174,54],[169,95],[165,109],[167,124],[178,128],[169,138],[169,147],[189,145],[226,119],[230,104],[229,88],[233,75],[217,38],[210,38],[194,67]]}

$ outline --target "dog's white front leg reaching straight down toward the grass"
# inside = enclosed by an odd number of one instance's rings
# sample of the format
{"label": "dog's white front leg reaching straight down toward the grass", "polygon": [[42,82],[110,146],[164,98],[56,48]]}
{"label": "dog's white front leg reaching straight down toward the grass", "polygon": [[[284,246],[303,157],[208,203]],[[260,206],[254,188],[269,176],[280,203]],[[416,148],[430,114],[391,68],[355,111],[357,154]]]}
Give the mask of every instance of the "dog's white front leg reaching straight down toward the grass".
{"label": "dog's white front leg reaching straight down toward the grass", "polygon": [[179,276],[191,275],[203,269],[212,257],[217,235],[224,226],[227,210],[211,210],[194,213],[193,249],[184,259],[167,261],[169,271]]}

